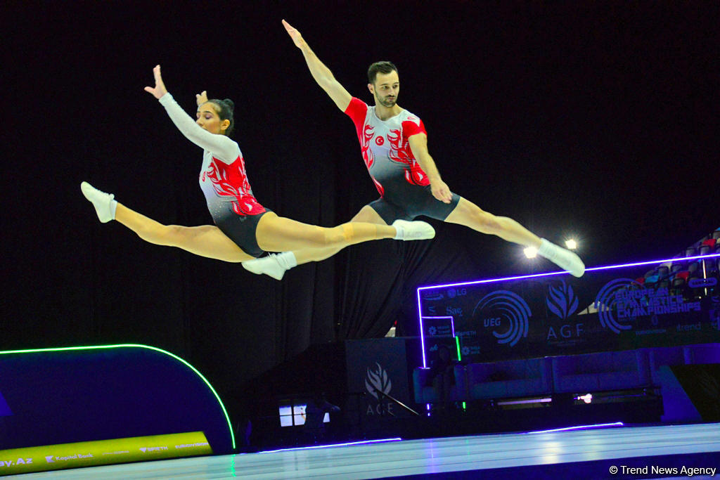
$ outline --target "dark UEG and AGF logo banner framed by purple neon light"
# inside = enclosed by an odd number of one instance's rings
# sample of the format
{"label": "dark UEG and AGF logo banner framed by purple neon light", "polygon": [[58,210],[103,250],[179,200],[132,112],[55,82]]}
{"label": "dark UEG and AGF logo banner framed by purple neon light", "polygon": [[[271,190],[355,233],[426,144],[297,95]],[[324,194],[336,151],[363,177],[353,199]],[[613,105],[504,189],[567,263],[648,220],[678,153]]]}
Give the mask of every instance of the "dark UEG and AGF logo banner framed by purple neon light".
{"label": "dark UEG and AGF logo banner framed by purple neon light", "polygon": [[719,257],[421,287],[426,363],[452,337],[471,362],[718,342]]}

